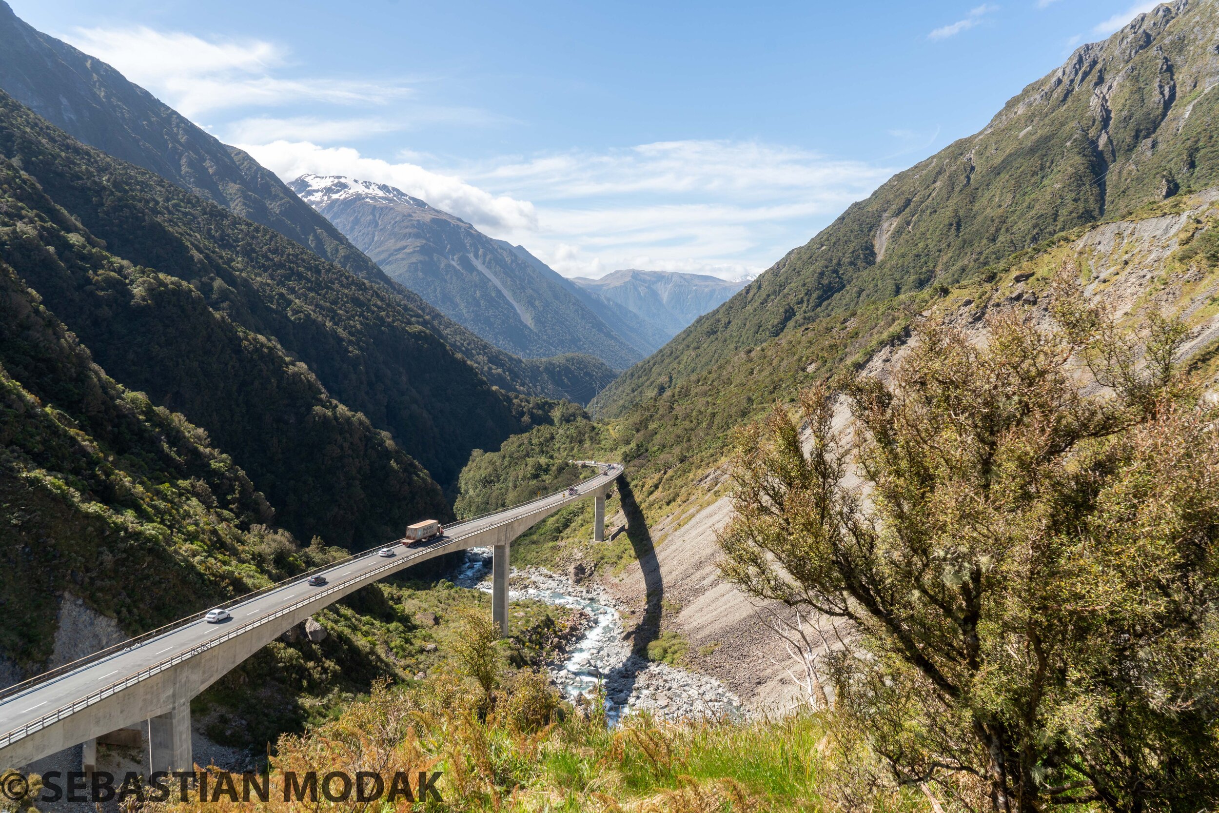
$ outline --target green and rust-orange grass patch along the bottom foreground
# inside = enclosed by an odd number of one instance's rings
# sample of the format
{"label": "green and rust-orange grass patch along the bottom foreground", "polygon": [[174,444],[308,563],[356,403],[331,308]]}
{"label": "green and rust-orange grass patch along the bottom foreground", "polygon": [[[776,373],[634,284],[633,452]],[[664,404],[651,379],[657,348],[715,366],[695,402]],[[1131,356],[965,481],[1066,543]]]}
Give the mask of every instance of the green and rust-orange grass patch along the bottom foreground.
{"label": "green and rust-orange grass patch along the bottom foreground", "polygon": [[[284,770],[439,770],[442,802],[396,809],[844,809],[833,784],[840,748],[826,712],[744,723],[670,723],[636,714],[611,728],[600,702],[580,708],[539,702],[540,686],[539,675],[516,673],[488,706],[478,687],[451,674],[410,687],[378,685],[338,719],[282,737],[271,761],[272,786],[282,786],[277,774]],[[908,793],[879,793],[874,801],[876,811],[926,807]],[[152,807],[155,813],[219,813],[286,811],[289,804],[273,793],[267,802]],[[310,807],[377,809],[324,800]]]}

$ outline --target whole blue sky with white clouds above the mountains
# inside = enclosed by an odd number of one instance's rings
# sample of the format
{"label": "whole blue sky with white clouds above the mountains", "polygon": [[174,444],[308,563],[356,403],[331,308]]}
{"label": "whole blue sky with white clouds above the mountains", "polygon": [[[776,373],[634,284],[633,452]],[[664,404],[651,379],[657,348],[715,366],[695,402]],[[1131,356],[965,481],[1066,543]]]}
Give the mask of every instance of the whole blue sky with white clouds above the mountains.
{"label": "whole blue sky with white clouds above the mountains", "polygon": [[728,278],[1154,5],[9,1],[285,180],[391,183],[569,275]]}

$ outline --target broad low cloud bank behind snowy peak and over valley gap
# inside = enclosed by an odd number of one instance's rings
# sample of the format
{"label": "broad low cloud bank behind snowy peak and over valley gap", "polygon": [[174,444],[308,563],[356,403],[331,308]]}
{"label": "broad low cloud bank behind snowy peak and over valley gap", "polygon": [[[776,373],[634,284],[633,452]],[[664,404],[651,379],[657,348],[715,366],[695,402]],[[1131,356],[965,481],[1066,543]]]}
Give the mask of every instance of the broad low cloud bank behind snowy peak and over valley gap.
{"label": "broad low cloud bank behind snowy peak and over valley gap", "polygon": [[892,172],[753,141],[514,156],[447,173],[350,147],[240,146],[284,179],[315,172],[391,184],[560,273],[591,277],[631,267],[756,273]]}

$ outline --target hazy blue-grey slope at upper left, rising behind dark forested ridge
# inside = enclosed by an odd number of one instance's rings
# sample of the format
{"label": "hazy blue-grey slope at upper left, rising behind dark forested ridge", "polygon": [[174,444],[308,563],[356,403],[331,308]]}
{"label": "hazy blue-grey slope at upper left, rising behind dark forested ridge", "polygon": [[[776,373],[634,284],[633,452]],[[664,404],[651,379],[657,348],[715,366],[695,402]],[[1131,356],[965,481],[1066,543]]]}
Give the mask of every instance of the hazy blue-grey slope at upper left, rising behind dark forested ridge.
{"label": "hazy blue-grey slope at upper left, rising behind dark forested ridge", "polygon": [[[570,358],[525,362],[445,318],[390,280],[329,221],[249,155],[221,144],[101,60],[35,30],[17,18],[4,0],[0,89],[77,140],[150,169],[393,290],[497,386],[588,402],[592,397],[588,392],[596,394],[612,378],[606,367],[573,363]],[[552,371],[560,371],[557,379],[551,378]]]}

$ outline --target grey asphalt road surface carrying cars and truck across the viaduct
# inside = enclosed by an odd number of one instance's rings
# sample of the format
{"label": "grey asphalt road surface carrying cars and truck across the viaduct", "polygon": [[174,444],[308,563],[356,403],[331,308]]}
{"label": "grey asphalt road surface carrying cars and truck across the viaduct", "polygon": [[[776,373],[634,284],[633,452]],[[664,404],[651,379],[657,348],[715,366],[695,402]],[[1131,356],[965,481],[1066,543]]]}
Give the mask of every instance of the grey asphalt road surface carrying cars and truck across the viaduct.
{"label": "grey asphalt road surface carrying cars and truck across the viaduct", "polygon": [[[332,588],[341,588],[352,581],[360,581],[378,568],[385,568],[384,573],[378,575],[378,578],[383,578],[411,564],[432,558],[435,556],[433,552],[434,549],[442,545],[475,536],[490,528],[528,517],[531,513],[586,499],[590,490],[612,481],[622,473],[622,466],[616,463],[602,464],[601,468],[602,472],[600,474],[578,484],[579,494],[577,496],[567,496],[566,491],[560,491],[558,494],[552,494],[479,519],[450,525],[445,528],[444,538],[433,540],[424,546],[407,549],[401,545],[402,540],[396,540],[388,545],[394,550],[395,556],[393,558],[377,556],[374,551],[371,556],[360,556],[321,570],[319,573],[327,579],[325,585],[310,586],[305,583],[305,577],[297,578],[274,590],[255,596],[249,601],[230,606],[228,609],[233,617],[227,622],[208,624],[202,619],[195,620],[171,629],[163,635],[141,641],[130,648],[87,662],[66,674],[32,685],[24,691],[0,702],[0,734],[11,733],[22,725],[38,720],[50,712],[63,708],[88,697],[98,690],[124,680],[141,669],[189,652],[193,647],[217,635],[223,635],[228,630],[240,628],[244,624],[267,616],[273,616],[277,611],[306,600],[313,594],[327,592]],[[473,545],[474,542],[471,546]],[[336,601],[340,597],[338,592],[336,590],[335,597],[330,598],[330,601]],[[318,608],[327,603],[330,602],[321,603]]]}

